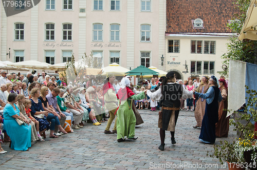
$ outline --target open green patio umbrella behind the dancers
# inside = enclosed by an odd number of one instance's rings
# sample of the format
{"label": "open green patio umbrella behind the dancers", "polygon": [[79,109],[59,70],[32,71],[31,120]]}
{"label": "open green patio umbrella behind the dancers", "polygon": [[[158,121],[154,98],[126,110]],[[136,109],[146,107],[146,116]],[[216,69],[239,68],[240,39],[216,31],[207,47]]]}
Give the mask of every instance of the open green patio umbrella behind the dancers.
{"label": "open green patio umbrella behind the dancers", "polygon": [[141,86],[142,86],[142,76],[143,75],[149,75],[149,74],[152,74],[152,75],[159,75],[158,72],[152,70],[152,69],[149,69],[147,67],[144,67],[144,66],[138,66],[137,68],[131,70],[131,71],[128,71],[126,72],[127,76],[135,76],[135,75],[140,75],[141,77]]}

